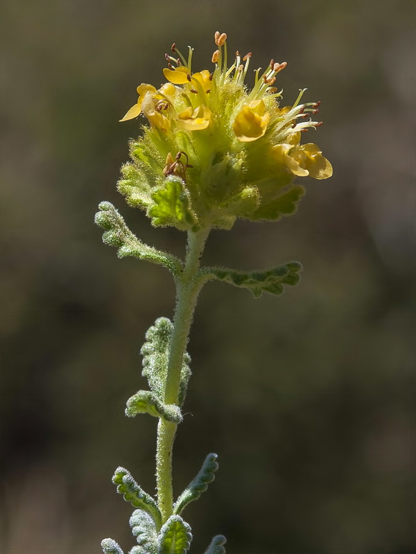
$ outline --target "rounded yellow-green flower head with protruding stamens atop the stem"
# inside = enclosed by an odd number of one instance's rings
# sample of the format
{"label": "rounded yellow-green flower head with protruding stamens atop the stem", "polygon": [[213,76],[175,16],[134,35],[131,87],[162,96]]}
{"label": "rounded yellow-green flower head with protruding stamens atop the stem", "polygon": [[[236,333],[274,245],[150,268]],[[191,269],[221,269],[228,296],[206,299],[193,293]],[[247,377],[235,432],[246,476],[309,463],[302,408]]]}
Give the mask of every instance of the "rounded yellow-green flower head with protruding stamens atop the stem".
{"label": "rounded yellow-green flower head with protruding stamens atop the stem", "polygon": [[320,102],[280,107],[274,86],[286,62],[270,60],[255,71],[249,90],[245,77],[251,53],[227,66],[227,35],[214,36],[214,71],[193,73],[173,44],[166,54],[166,82],[137,87],[139,98],[121,121],[143,114],[140,139],[130,143],[132,162],[123,166],[119,190],[130,204],[146,209],[155,225],[196,231],[229,229],[236,217],[277,220],[295,211],[304,188],[295,177],[327,179],[329,161],[302,134],[322,122],[313,120]]}

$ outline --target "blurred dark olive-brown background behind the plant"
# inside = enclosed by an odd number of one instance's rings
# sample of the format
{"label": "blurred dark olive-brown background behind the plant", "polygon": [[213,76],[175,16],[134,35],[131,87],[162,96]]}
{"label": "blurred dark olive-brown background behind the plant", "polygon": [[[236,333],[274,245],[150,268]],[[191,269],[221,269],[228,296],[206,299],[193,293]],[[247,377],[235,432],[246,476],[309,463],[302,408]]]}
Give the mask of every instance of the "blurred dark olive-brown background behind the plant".
{"label": "blurred dark olive-brown background behind the plant", "polygon": [[[154,490],[156,420],[128,420],[146,329],[173,312],[164,269],[116,259],[93,224],[114,202],[145,242],[182,253],[115,190],[118,123],[172,42],[209,65],[215,30],[254,67],[288,62],[285,103],[322,100],[334,166],[295,217],[212,233],[205,261],[300,260],[300,287],[210,283],[189,351],[175,445],[180,492],[207,452],[220,470],[188,508],[193,553],[410,554],[415,449],[412,300],[416,5],[406,0],[4,0],[1,17],[1,544],[7,554],[133,546],[117,465]],[[311,133],[309,133],[311,135]],[[305,182],[305,181],[302,181]]]}

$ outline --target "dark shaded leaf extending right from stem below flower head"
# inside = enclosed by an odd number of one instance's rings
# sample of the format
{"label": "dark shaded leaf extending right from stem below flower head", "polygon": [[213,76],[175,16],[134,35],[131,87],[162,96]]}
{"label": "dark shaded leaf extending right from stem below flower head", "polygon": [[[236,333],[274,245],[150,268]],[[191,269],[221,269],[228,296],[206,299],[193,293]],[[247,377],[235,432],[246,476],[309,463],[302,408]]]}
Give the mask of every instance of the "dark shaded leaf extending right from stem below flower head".
{"label": "dark shaded leaf extending right from stem below flower head", "polygon": [[205,267],[201,274],[206,280],[218,279],[249,289],[254,298],[259,298],[262,292],[269,292],[277,296],[284,292],[284,285],[295,286],[300,281],[299,272],[302,265],[299,262],[290,262],[286,265],[268,269],[268,271],[234,271],[234,269],[223,269],[220,267]]}

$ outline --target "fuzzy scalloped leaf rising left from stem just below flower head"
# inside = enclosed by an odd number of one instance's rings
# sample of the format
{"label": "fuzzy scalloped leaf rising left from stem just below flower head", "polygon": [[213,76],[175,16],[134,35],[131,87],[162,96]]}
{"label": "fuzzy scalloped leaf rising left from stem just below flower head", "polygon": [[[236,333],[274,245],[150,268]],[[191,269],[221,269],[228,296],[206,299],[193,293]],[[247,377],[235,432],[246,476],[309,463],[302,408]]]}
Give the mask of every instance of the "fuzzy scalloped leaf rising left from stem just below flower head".
{"label": "fuzzy scalloped leaf rising left from stem just below flower head", "polygon": [[155,264],[164,265],[177,275],[182,271],[182,262],[166,252],[162,252],[141,242],[125,224],[123,217],[110,202],[101,202],[98,205],[95,222],[106,229],[103,233],[103,242],[110,246],[119,247],[117,256],[125,258],[133,256],[140,260],[148,260]]}

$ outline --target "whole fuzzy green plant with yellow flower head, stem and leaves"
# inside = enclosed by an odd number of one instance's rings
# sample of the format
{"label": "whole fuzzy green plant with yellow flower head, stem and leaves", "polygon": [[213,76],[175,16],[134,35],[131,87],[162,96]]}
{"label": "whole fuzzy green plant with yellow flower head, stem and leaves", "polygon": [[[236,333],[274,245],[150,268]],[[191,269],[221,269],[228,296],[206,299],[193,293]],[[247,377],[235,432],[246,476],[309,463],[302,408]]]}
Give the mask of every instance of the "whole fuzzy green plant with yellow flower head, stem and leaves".
{"label": "whole fuzzy green plant with yellow flower head, stem and leaves", "polygon": [[[304,194],[295,177],[331,177],[329,161],[302,134],[321,125],[313,120],[319,102],[281,107],[281,91],[274,85],[286,63],[273,60],[266,71],[255,71],[248,89],[251,53],[227,66],[227,36],[215,33],[213,71],[193,72],[192,48],[185,58],[173,44],[166,54],[165,84],[137,87],[139,97],[122,121],[144,116],[139,139],[130,141],[131,161],[122,168],[119,191],[130,206],[142,208],[154,226],[186,231],[184,260],[141,242],[109,202],[102,202],[96,223],[105,229],[103,240],[118,247],[119,258],[134,256],[166,267],[177,288],[173,323],[164,317],[146,333],[141,349],[148,391],[129,398],[126,415],[148,413],[158,419],[156,498],[144,492],[128,470],[117,468],[117,492],[135,509],[130,518],[137,539],[130,554],[186,554],[191,528],[182,511],[207,489],[218,468],[216,454],[208,454],[196,477],[176,500],[172,490],[172,449],[191,376],[186,352],[193,311],[200,289],[208,280],[223,280],[279,295],[285,285],[297,285],[301,265],[289,262],[267,271],[236,271],[201,267],[200,258],[211,229],[230,229],[237,217],[251,221],[279,220],[291,215]],[[225,538],[217,535],[206,554],[224,554]],[[103,552],[122,554],[113,539],[101,543]]]}

